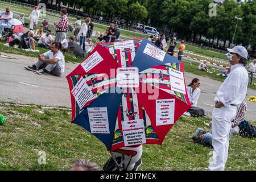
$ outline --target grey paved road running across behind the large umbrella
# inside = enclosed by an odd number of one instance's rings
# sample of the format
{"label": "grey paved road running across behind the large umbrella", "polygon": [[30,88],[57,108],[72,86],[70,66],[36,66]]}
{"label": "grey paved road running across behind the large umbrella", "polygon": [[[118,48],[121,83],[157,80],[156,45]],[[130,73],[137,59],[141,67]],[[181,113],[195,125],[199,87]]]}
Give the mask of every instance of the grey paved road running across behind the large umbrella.
{"label": "grey paved road running across behind the large umbrella", "polygon": [[[5,55],[9,56],[10,59]],[[55,77],[38,75],[24,69],[24,66],[34,61],[36,61],[36,58],[7,53],[1,54],[0,101],[71,107],[68,82],[65,76],[76,68],[77,64],[66,63],[64,76]],[[211,115],[214,105],[213,98],[221,82],[192,73],[185,73],[186,84],[189,84],[195,77],[201,80],[201,95],[198,106]],[[248,89],[246,98],[249,96],[256,96],[256,91]],[[255,121],[256,103],[247,100],[246,103],[246,119]]]}

